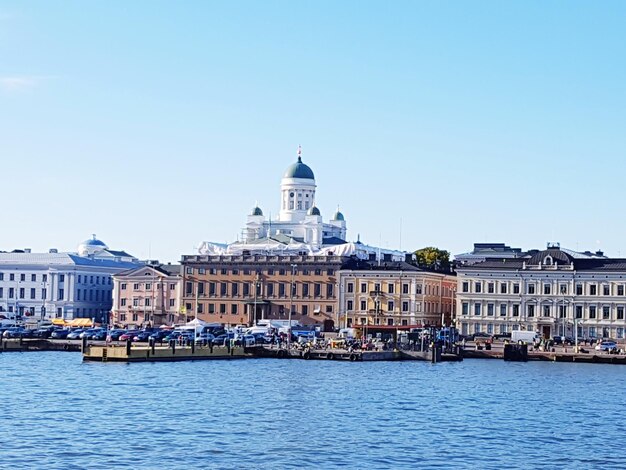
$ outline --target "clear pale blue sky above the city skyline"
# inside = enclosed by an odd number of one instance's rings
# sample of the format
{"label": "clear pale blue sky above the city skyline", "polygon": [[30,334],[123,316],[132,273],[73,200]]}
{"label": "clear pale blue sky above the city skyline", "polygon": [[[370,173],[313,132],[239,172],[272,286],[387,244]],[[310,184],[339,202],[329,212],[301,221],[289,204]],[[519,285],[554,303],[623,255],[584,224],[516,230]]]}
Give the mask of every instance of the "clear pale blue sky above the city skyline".
{"label": "clear pale blue sky above the city skyline", "polygon": [[626,257],[626,2],[3,1],[0,249],[176,261],[279,209]]}

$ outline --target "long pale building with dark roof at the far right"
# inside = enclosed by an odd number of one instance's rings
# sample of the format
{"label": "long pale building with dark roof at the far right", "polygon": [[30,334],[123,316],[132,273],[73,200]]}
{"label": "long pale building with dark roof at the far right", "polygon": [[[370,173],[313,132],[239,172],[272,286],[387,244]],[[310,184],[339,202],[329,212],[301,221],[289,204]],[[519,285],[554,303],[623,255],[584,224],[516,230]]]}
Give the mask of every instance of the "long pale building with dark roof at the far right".
{"label": "long pale building with dark roof at the far right", "polygon": [[624,338],[626,260],[557,244],[523,258],[457,267],[462,334],[535,331],[544,337]]}

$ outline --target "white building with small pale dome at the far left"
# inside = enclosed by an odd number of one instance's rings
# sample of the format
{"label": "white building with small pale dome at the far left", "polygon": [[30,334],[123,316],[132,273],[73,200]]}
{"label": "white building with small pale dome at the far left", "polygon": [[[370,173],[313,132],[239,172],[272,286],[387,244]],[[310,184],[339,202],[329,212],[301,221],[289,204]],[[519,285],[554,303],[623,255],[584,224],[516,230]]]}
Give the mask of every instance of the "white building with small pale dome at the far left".
{"label": "white building with small pale dome at the far left", "polygon": [[111,310],[111,275],[139,266],[125,252],[109,250],[95,236],[78,253],[0,253],[0,312],[7,318],[95,318]]}

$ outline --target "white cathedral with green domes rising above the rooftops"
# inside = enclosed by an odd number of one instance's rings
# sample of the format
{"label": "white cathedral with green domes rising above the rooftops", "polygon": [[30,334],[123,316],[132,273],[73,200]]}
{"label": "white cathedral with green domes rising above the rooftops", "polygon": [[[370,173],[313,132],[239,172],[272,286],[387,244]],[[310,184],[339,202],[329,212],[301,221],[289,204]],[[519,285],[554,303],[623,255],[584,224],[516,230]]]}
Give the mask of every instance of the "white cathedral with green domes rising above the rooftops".
{"label": "white cathedral with green domes rising above the rooftops", "polygon": [[330,222],[322,220],[315,205],[315,175],[302,163],[300,149],[298,161],[285,171],[280,182],[280,213],[274,220],[267,219],[260,207],[248,216],[244,229],[244,243],[277,238],[305,243],[313,250],[346,242],[346,221],[339,209]]}

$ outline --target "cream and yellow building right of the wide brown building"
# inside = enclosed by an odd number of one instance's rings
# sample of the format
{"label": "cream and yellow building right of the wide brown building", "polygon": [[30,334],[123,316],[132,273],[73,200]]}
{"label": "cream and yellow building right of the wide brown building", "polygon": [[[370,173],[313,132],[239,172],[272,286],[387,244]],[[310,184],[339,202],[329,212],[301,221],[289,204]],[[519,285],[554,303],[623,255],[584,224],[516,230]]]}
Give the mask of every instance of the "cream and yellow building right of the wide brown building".
{"label": "cream and yellow building right of the wide brown building", "polygon": [[406,262],[353,260],[339,271],[340,325],[449,325],[456,286],[451,273]]}

